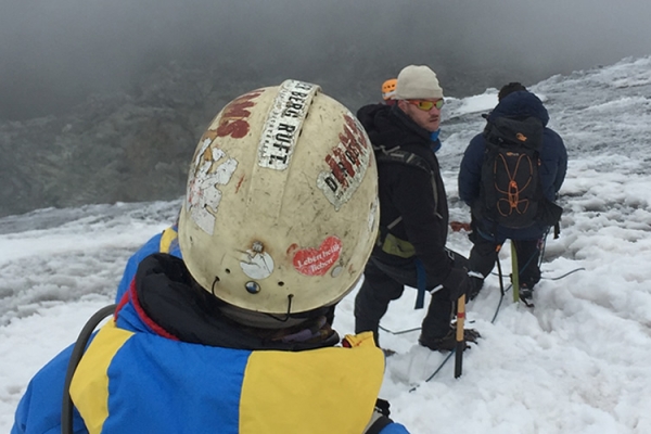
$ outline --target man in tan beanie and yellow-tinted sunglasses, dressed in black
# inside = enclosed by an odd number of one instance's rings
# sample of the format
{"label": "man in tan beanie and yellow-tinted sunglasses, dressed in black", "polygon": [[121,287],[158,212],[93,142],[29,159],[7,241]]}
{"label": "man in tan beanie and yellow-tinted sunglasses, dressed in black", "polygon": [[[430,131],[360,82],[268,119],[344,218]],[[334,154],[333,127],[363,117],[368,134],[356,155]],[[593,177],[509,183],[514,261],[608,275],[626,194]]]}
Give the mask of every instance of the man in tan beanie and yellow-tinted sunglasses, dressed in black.
{"label": "man in tan beanie and yellow-tinted sunglasses, dressed in black", "polygon": [[[396,104],[366,105],[357,117],[378,159],[380,237],[355,299],[355,331],[372,331],[405,285],[417,288],[417,308],[432,294],[419,343],[433,350],[455,348],[454,303],[471,291],[468,259],[445,247],[448,205],[435,152],[443,89],[427,66],[410,65],[398,75]],[[478,334],[465,330],[475,342]]]}

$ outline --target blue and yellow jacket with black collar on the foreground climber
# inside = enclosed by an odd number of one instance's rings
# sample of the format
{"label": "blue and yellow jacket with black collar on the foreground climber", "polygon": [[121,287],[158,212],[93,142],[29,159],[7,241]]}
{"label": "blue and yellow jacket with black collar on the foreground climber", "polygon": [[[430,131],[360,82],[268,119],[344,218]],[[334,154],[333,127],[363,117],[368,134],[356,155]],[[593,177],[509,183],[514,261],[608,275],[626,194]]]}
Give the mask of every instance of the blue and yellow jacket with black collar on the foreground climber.
{"label": "blue and yellow jacket with black collar on the foreground climber", "polygon": [[[362,433],[384,357],[372,335],[286,342],[220,316],[182,260],[143,259],[71,386],[75,433]],[[31,380],[13,434],[59,433],[72,348]],[[390,423],[382,434],[405,434]]]}

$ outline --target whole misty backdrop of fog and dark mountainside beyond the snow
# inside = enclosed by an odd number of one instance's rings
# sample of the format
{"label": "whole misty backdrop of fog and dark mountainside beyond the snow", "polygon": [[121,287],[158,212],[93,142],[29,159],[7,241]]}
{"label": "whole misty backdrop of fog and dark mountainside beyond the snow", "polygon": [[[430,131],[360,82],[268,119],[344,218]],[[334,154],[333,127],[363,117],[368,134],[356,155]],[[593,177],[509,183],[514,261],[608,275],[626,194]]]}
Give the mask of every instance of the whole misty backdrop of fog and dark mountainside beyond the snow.
{"label": "whole misty backdrop of fog and dark mountainside beyond the snow", "polygon": [[256,87],[311,81],[355,111],[416,63],[467,97],[647,55],[648,16],[642,0],[5,0],[0,216],[181,195],[209,119]]}

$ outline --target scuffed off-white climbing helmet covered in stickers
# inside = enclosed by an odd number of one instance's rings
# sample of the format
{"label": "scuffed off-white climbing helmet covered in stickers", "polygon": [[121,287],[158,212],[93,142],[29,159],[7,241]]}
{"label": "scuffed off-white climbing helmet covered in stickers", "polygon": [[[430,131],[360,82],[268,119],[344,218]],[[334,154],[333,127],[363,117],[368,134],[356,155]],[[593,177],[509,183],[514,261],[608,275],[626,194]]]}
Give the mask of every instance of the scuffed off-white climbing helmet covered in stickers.
{"label": "scuffed off-white climbing helmet covered in stickers", "polygon": [[332,305],[358,281],[379,222],[378,173],[355,116],[286,80],[230,102],[190,166],[179,242],[192,277],[246,310]]}

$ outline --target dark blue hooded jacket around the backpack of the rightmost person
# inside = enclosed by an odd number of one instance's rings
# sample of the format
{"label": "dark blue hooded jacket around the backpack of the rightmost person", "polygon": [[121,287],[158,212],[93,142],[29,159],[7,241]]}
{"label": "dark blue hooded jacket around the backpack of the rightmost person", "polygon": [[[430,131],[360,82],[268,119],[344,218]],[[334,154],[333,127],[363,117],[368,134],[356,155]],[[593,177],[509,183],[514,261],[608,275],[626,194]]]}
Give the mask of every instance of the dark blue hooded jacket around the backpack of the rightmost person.
{"label": "dark blue hooded jacket around the backpack of the rightmost person", "polygon": [[[528,91],[513,92],[502,99],[493,110],[488,119],[492,120],[500,116],[534,116],[542,122],[545,126],[542,138],[542,150],[540,151],[540,183],[542,193],[550,201],[556,200],[558,191],[561,189],[565,173],[567,170],[567,151],[563,139],[550,128],[549,114],[542,102],[535,94]],[[465,204],[472,206],[480,195],[480,184],[482,176],[482,162],[486,151],[486,142],[483,135],[476,135],[471,141],[463,154],[461,167],[459,169],[459,196]],[[490,232],[488,228],[493,225],[488,221],[481,222],[480,230]],[[497,228],[497,239],[529,240],[542,235],[547,227],[534,224],[524,229]]]}

